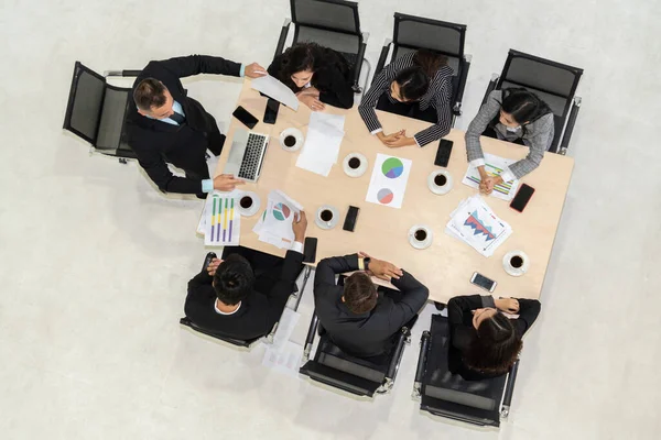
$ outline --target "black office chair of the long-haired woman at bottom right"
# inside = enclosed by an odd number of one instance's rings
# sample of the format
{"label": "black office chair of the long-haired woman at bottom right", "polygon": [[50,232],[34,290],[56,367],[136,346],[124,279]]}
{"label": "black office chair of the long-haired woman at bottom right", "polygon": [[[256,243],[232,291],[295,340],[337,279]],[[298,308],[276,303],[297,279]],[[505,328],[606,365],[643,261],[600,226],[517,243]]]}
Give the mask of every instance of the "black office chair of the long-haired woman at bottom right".
{"label": "black office chair of the long-haired woman at bottom right", "polygon": [[500,426],[507,419],[514,391],[519,361],[510,373],[483,381],[465,381],[448,371],[449,324],[432,316],[430,331],[420,340],[420,356],[413,397],[430,414],[479,426]]}

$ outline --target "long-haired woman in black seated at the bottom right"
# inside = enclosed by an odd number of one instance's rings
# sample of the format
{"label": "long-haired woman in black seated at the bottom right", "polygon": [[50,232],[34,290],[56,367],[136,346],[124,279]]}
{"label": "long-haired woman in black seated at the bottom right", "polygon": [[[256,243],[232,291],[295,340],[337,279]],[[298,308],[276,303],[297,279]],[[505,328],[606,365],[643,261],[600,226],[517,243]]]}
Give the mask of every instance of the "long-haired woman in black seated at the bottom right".
{"label": "long-haired woman in black seated at the bottom right", "polygon": [[[449,371],[466,381],[506,374],[523,346],[521,338],[540,314],[537,299],[457,296],[447,302]],[[501,312],[519,315],[509,319]]]}

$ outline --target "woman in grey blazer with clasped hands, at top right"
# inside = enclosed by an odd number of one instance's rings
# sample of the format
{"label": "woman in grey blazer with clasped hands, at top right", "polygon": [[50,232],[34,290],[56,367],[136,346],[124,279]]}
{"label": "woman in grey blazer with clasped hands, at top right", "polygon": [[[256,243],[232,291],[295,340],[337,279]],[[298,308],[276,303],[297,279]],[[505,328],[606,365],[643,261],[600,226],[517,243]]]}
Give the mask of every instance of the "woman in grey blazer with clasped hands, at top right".
{"label": "woman in grey blazer with clasped hands, at top right", "polygon": [[[525,89],[494,90],[466,131],[468,163],[479,172],[479,189],[490,194],[503,182],[518,179],[537,168],[553,142],[553,112],[537,95]],[[530,147],[525,158],[511,164],[500,175],[485,170],[479,136],[500,139]]]}

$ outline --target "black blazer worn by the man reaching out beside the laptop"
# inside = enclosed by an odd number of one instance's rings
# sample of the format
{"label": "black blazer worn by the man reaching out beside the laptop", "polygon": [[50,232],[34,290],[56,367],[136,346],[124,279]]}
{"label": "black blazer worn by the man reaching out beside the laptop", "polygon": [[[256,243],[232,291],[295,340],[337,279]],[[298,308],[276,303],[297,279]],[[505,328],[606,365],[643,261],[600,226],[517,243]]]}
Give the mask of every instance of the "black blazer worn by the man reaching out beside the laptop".
{"label": "black blazer worn by the man reaching out beside the laptop", "polygon": [[217,56],[191,55],[150,62],[140,73],[133,88],[144,78],[163,82],[186,114],[184,125],[173,125],[138,113],[129,99],[127,135],[140,165],[149,177],[166,193],[202,193],[202,179],[175,177],[166,163],[185,170],[199,169],[205,164],[207,133],[218,130],[216,120],[193,98],[188,98],[180,78],[198,74],[239,76],[241,65]]}

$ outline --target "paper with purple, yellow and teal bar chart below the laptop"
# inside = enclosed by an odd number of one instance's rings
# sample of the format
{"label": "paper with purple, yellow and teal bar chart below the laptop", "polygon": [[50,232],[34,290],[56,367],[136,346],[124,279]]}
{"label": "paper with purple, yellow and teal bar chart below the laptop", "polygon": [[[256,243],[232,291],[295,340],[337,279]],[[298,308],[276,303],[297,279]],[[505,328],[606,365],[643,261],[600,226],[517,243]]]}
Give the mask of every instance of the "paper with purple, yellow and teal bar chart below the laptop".
{"label": "paper with purple, yellow and teal bar chart below the laptop", "polygon": [[241,234],[240,216],[235,191],[214,191],[205,204],[204,244],[207,246],[238,245]]}

